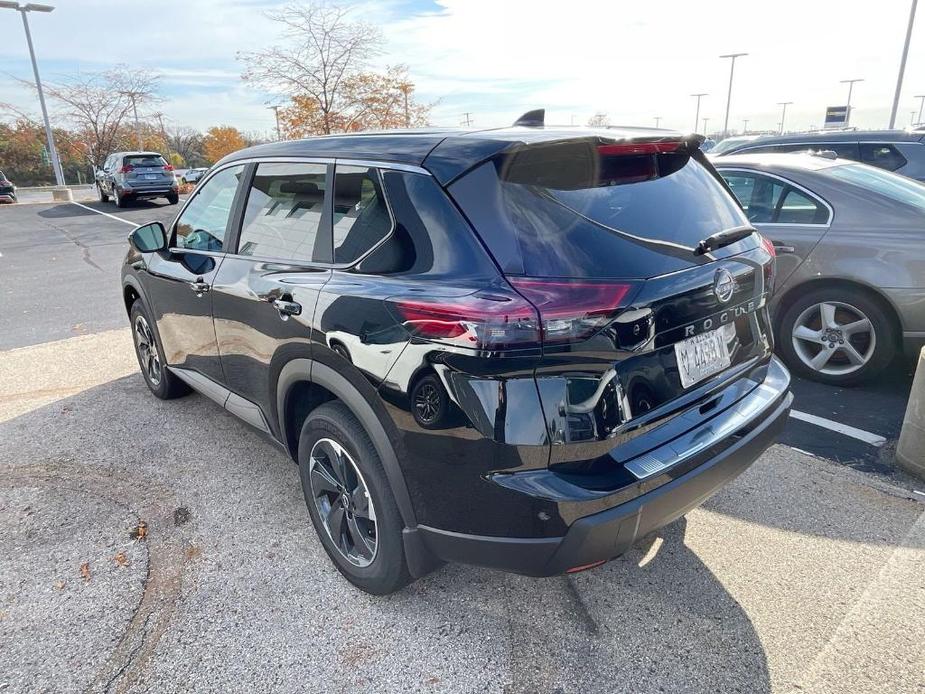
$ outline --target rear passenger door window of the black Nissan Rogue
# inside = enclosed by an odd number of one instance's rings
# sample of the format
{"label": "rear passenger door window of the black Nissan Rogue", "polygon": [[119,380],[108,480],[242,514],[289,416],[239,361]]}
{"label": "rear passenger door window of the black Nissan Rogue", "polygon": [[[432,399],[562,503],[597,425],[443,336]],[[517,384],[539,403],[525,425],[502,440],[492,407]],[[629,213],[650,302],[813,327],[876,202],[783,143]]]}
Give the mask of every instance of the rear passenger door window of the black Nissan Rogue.
{"label": "rear passenger door window of the black Nissan Rogue", "polygon": [[324,164],[260,164],[247,195],[238,253],[285,260],[322,257]]}

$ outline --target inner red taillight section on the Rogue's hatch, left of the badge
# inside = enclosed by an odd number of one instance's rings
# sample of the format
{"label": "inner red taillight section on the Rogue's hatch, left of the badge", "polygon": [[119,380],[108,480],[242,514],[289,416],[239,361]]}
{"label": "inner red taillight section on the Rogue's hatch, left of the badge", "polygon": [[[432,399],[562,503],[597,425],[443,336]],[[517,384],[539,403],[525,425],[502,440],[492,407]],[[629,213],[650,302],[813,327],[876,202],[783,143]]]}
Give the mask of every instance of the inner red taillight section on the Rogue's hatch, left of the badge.
{"label": "inner red taillight section on the Rogue's hatch, left of the badge", "polygon": [[544,344],[587,339],[605,328],[626,305],[627,282],[509,277],[540,315]]}

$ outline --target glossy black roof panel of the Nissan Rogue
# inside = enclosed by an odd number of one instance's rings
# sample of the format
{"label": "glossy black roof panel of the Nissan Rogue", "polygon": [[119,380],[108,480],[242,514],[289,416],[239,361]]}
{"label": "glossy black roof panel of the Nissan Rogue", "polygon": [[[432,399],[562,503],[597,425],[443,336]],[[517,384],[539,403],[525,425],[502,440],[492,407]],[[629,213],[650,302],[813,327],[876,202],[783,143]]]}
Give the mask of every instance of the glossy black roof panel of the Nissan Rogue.
{"label": "glossy black roof panel of the Nissan Rogue", "polygon": [[657,128],[510,127],[493,130],[432,128],[325,135],[248,147],[219,162],[255,157],[349,157],[421,166],[442,184],[512,147],[597,138],[605,142],[677,140],[681,133]]}

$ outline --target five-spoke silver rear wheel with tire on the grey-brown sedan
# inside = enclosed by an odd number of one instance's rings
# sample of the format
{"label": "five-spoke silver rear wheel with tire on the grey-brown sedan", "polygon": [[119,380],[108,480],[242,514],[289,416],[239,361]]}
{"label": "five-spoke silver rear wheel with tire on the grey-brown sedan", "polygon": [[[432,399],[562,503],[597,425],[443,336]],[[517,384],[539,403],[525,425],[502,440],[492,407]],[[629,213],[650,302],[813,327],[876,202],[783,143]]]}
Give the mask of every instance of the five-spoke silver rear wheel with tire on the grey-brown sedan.
{"label": "five-spoke silver rear wheel with tire on the grey-brown sedan", "polygon": [[855,385],[892,361],[896,326],[869,293],[856,287],[821,287],[800,296],[784,312],[778,352],[801,376],[833,386]]}

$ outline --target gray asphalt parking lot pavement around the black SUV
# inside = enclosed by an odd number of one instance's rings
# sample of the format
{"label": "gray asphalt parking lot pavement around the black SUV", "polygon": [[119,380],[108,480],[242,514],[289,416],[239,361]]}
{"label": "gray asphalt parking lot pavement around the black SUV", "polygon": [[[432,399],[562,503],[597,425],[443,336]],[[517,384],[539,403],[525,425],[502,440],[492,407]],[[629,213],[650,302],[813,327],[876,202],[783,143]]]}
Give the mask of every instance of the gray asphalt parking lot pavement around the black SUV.
{"label": "gray asphalt parking lot pavement around the black SUV", "polygon": [[131,223],[176,208],[88,206],[126,221],[0,208],[0,692],[925,692],[925,496],[883,474],[901,360],[862,389],[794,386],[881,446],[794,420],[600,569],[448,566],[373,598],[276,447],[147,393],[118,268]]}

